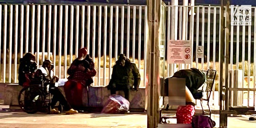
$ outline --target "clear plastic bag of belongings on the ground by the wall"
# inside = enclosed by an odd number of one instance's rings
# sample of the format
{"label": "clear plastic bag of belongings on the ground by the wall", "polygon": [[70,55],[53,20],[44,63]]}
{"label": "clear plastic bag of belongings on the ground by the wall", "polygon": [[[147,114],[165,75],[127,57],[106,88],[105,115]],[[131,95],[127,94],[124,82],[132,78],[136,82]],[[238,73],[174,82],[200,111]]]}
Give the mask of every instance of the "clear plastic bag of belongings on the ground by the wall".
{"label": "clear plastic bag of belongings on the ground by the wall", "polygon": [[122,114],[129,110],[130,102],[119,95],[110,95],[101,113]]}

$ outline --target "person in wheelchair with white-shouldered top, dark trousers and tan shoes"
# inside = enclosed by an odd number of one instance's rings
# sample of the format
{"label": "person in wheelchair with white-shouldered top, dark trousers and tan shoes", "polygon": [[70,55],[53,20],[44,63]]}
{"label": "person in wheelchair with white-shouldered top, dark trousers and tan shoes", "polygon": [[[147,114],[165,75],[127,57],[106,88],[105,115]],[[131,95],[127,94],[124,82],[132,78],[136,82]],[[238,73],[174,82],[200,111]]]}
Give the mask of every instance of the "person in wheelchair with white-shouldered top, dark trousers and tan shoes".
{"label": "person in wheelchair with white-shouldered top, dark trousers and tan shoes", "polygon": [[[50,103],[51,114],[59,114],[60,111],[54,109],[54,106],[59,101],[60,104],[66,108],[66,114],[76,114],[77,110],[71,108],[70,104],[67,102],[63,94],[60,92],[56,82],[58,82],[58,77],[53,75],[52,69],[54,68],[53,63],[50,60],[44,60],[42,66],[38,68],[34,74],[34,80],[43,82],[45,87],[49,85],[49,92],[53,94],[52,101]],[[64,109],[65,110],[65,109]]]}

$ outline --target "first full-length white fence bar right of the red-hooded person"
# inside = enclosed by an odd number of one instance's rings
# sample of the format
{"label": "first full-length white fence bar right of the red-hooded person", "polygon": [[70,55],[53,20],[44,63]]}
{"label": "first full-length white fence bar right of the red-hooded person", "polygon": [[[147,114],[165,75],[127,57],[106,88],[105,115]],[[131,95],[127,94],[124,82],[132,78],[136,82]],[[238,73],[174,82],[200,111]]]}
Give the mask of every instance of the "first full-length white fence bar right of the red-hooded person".
{"label": "first full-length white fence bar right of the red-hooded person", "polygon": [[102,16],[102,6],[99,6],[98,12],[98,86],[100,85],[100,60],[101,60],[101,16]]}

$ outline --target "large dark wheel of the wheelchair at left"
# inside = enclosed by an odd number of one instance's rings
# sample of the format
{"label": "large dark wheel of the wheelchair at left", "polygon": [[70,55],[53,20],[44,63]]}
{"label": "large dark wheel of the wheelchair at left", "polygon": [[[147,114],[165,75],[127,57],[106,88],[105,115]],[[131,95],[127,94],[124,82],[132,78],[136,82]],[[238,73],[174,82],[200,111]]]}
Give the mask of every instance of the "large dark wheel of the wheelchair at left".
{"label": "large dark wheel of the wheelchair at left", "polygon": [[42,107],[43,98],[42,91],[38,86],[28,86],[20,91],[18,103],[24,112],[34,114],[38,112],[38,108]]}

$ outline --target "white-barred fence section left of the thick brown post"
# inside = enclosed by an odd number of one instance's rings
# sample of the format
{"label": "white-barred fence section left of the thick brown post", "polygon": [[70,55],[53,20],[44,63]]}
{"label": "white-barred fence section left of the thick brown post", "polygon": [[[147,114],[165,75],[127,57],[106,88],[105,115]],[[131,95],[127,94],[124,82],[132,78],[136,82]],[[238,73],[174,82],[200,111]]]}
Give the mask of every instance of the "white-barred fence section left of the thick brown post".
{"label": "white-barred fence section left of the thick brown post", "polygon": [[17,82],[26,52],[38,64],[50,58],[55,74],[67,78],[78,49],[86,47],[96,65],[94,86],[108,84],[120,53],[136,62],[145,85],[146,6],[2,4],[0,10],[1,82]]}

